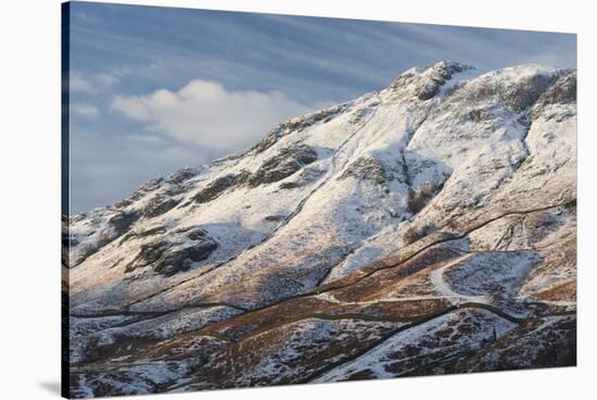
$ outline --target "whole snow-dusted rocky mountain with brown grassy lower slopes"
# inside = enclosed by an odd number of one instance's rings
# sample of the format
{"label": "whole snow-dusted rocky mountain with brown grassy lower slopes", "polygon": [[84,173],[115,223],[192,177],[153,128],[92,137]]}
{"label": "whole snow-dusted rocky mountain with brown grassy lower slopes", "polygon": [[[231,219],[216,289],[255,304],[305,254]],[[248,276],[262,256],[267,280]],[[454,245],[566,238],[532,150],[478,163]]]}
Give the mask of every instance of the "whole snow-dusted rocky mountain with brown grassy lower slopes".
{"label": "whole snow-dusted rocky mountain with brown grassy lower slopes", "polygon": [[65,225],[73,397],[575,365],[576,72],[411,68]]}

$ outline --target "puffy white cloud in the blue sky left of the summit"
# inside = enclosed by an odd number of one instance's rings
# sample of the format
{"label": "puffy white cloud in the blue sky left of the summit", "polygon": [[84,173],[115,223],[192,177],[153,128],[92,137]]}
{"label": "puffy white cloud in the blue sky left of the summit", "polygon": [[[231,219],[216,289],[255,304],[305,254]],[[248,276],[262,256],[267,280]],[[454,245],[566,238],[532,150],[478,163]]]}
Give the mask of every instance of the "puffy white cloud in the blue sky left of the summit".
{"label": "puffy white cloud in the blue sky left of the summit", "polygon": [[216,82],[194,79],[178,91],[118,96],[111,110],[142,123],[152,134],[225,151],[252,145],[279,122],[309,108],[280,91],[234,91]]}

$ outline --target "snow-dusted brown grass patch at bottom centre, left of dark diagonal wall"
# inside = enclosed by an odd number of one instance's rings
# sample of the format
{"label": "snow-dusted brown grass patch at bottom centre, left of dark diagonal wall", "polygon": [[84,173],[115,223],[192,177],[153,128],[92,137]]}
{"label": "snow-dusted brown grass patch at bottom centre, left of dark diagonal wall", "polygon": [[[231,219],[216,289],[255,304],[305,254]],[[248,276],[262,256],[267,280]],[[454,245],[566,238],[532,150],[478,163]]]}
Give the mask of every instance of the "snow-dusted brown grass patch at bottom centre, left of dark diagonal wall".
{"label": "snow-dusted brown grass patch at bottom centre, left of dark diagonal wall", "polygon": [[355,351],[348,343],[366,346],[397,326],[399,324],[391,322],[351,318],[296,321],[242,340],[232,350],[244,351],[242,360],[232,360],[228,352],[212,358],[195,376],[195,384],[187,389],[209,388],[205,380],[212,375],[224,379],[224,385],[234,387],[259,385],[259,382],[272,385],[300,382]]}

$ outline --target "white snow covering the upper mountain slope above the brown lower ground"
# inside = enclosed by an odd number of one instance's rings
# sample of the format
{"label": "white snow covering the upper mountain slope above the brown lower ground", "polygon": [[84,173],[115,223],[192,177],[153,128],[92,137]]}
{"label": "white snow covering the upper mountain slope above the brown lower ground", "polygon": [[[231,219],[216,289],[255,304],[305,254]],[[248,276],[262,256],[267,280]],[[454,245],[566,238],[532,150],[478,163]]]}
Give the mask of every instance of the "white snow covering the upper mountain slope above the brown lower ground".
{"label": "white snow covering the upper mountain slope above the brown lower ground", "polygon": [[[332,107],[328,118],[306,123],[296,130],[284,128],[265,151],[246,150],[196,168],[195,175],[179,186],[167,179],[145,184],[125,211],[142,210],[151,199],[175,189],[180,204],[186,204],[214,179],[255,172],[264,161],[294,143],[315,149],[318,160],[308,168],[320,172],[315,179],[291,190],[280,189],[279,185],[293,182],[300,172],[280,183],[231,188],[214,201],[179,205],[157,217],[139,220],[132,227],[136,232],[164,226],[168,232],[162,236],[183,241],[182,236],[173,237],[174,229],[201,227],[219,246],[207,260],[165,279],[144,270],[124,273],[140,246],[160,236],[126,242],[116,238],[72,270],[75,310],[129,303],[139,309],[163,309],[203,298],[263,305],[308,290],[320,278],[331,282],[399,251],[403,241],[396,236],[403,236],[411,225],[474,221],[477,210],[518,190],[520,185],[538,188],[545,184],[549,174],[528,178],[535,171],[559,173],[560,165],[568,168],[575,148],[575,120],[557,121],[575,112],[573,105],[545,107],[528,130],[521,113],[508,109],[501,95],[479,98],[477,102],[471,102],[468,95],[484,87],[508,88],[532,76],[558,76],[561,70],[538,65],[484,74],[466,70],[454,74],[434,98],[412,101],[410,88],[424,83],[432,73],[432,68],[410,70],[403,74],[404,86]],[[482,114],[479,121],[468,116],[477,110]],[[310,121],[313,115],[291,122]],[[525,162],[530,157],[531,162]],[[353,163],[364,158],[382,163],[386,186],[342,178]],[[521,163],[533,168],[522,174],[518,171]],[[566,170],[570,178],[572,167],[570,164]],[[524,179],[515,179],[518,175]],[[536,186],[529,180],[536,182]],[[423,187],[440,192],[414,214],[408,207],[409,192]],[[467,213],[467,209],[472,212]],[[72,259],[81,258],[81,249],[98,247],[100,237],[112,239],[115,234],[106,221],[114,213],[114,208],[98,209],[72,224],[71,235],[80,241]],[[278,220],[268,220],[270,216]],[[135,277],[134,284],[123,280],[123,275]],[[303,276],[302,284],[280,290],[278,286],[283,283],[276,277],[282,275]],[[258,276],[264,278],[254,282]]]}

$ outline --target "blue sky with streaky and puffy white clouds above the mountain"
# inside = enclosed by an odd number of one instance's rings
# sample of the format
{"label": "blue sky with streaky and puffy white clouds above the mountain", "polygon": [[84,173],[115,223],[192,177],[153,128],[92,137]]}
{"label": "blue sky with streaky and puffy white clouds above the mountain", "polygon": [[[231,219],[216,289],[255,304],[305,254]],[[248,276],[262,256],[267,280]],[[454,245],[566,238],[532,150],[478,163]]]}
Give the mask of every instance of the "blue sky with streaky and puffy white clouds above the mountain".
{"label": "blue sky with streaky and puffy white clouds above the mountain", "polygon": [[576,67],[576,37],[72,2],[71,209],[113,203],[440,60]]}

